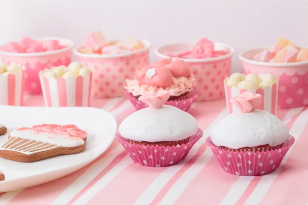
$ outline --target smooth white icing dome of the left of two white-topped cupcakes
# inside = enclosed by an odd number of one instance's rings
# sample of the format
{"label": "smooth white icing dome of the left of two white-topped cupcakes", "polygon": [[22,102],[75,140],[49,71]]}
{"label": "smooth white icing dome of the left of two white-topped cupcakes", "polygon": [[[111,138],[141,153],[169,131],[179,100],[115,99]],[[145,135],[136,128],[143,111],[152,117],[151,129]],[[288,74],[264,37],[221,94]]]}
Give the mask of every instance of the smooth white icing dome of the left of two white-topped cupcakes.
{"label": "smooth white icing dome of the left of two white-topped cupcakes", "polygon": [[196,119],[174,106],[144,108],[125,118],[119,132],[134,141],[178,141],[197,133]]}

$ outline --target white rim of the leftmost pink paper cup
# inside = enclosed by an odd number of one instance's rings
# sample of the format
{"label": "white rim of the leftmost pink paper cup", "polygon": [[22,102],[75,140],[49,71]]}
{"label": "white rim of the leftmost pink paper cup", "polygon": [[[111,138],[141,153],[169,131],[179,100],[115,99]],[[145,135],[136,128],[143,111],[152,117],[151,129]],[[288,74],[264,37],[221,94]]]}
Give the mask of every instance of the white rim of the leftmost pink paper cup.
{"label": "white rim of the leftmost pink paper cup", "polygon": [[13,53],[13,52],[7,52],[1,50],[2,47],[7,45],[8,43],[5,43],[0,46],[0,54],[1,55],[8,55],[8,56],[14,56],[14,57],[37,57],[37,56],[48,56],[48,55],[53,55],[53,54],[58,54],[62,53],[64,51],[69,51],[73,48],[74,43],[67,39],[67,38],[59,38],[59,37],[41,37],[41,38],[33,38],[35,40],[59,40],[63,43],[67,44],[67,47],[59,49],[59,50],[54,50],[54,51],[45,51],[45,52],[38,52],[38,53]]}

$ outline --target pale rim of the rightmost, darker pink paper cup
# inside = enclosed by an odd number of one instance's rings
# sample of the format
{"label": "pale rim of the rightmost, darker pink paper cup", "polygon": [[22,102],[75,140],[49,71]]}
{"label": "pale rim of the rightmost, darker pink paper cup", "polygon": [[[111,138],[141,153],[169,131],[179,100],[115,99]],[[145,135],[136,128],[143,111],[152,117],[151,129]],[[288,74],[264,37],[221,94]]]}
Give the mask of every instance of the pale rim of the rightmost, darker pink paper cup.
{"label": "pale rim of the rightmost, darker pink paper cup", "polygon": [[295,62],[295,63],[269,63],[269,62],[260,62],[256,60],[249,59],[245,57],[245,55],[249,52],[256,52],[256,51],[262,51],[265,49],[271,49],[274,46],[267,46],[263,48],[255,48],[255,49],[249,49],[246,51],[243,51],[239,54],[239,58],[248,64],[256,65],[256,66],[264,66],[264,67],[285,67],[285,68],[290,68],[290,67],[297,67],[297,66],[308,66],[308,61],[304,62]]}

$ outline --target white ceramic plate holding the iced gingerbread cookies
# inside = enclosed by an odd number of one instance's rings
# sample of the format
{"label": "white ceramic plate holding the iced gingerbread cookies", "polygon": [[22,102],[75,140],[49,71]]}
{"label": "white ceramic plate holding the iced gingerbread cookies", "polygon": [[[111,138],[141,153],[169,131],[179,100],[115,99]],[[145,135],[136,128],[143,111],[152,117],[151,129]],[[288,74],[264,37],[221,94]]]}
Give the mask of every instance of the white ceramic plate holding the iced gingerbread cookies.
{"label": "white ceramic plate holding the iced gingerbread cookies", "polygon": [[[97,108],[32,108],[0,106],[0,124],[8,134],[16,128],[40,124],[73,124],[88,133],[86,149],[78,154],[61,155],[36,162],[17,162],[0,158],[5,180],[0,192],[40,185],[70,174],[98,158],[111,145],[117,121],[108,112]],[[0,136],[0,146],[8,138]]]}

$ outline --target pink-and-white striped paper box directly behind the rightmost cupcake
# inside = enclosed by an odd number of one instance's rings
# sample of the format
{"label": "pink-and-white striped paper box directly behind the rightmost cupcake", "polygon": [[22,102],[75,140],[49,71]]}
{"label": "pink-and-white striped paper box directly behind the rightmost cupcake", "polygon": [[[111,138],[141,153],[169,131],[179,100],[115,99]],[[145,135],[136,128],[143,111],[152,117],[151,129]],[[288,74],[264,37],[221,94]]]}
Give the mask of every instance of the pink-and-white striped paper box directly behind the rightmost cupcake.
{"label": "pink-and-white striped paper box directly behind the rightmost cupcake", "polygon": [[232,97],[239,96],[241,93],[244,92],[251,92],[254,94],[261,94],[262,95],[262,103],[258,107],[258,110],[264,110],[266,112],[272,113],[276,115],[277,112],[277,99],[278,99],[278,83],[273,84],[273,86],[267,86],[263,89],[258,88],[257,90],[245,90],[245,89],[238,89],[237,87],[230,87],[225,84],[224,80],[224,90],[226,96],[226,103],[228,108],[228,113],[231,114],[233,112],[239,112],[240,109],[236,107],[234,104],[230,103],[230,99]]}

